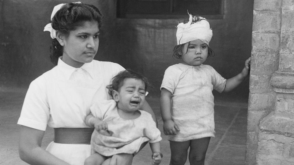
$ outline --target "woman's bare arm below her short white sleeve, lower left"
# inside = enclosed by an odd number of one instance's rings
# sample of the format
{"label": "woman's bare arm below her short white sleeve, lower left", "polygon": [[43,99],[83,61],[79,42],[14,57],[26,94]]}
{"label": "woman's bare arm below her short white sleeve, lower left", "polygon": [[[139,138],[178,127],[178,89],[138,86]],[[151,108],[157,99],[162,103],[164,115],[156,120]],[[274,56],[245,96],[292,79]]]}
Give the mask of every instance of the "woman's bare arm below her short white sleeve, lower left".
{"label": "woman's bare arm below her short white sleeve, lower left", "polygon": [[19,137],[19,156],[21,160],[36,165],[69,165],[41,148],[45,131],[21,126]]}

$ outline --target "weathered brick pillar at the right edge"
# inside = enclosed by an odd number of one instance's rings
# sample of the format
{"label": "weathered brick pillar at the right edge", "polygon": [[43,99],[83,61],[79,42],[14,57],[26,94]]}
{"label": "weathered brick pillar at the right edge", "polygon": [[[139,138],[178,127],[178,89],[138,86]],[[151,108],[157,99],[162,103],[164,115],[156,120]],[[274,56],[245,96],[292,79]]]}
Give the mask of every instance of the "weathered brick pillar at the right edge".
{"label": "weathered brick pillar at the right edge", "polygon": [[246,164],[294,164],[294,0],[254,0]]}

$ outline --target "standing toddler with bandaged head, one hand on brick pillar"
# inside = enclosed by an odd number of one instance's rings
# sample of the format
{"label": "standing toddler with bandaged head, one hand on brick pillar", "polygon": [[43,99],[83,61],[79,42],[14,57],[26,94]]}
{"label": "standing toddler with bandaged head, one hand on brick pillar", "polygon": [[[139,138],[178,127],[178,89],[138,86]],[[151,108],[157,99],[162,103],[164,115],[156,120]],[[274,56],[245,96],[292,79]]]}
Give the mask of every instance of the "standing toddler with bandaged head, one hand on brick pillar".
{"label": "standing toddler with bandaged head, one hand on brick pillar", "polygon": [[173,56],[182,59],[168,67],[161,84],[160,109],[164,134],[169,135],[170,165],[183,165],[190,147],[190,164],[204,164],[210,137],[214,137],[214,97],[212,90],[228,92],[249,73],[250,58],[243,70],[224,79],[213,67],[202,64],[213,55],[209,22],[190,15],[177,26],[177,46]]}

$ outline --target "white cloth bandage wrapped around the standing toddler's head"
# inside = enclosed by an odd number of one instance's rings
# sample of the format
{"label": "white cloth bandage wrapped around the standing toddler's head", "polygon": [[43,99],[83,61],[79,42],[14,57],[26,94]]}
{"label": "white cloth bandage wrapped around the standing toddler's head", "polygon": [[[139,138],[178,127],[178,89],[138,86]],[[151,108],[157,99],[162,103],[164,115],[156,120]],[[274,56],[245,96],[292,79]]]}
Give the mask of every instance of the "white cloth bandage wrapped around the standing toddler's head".
{"label": "white cloth bandage wrapped around the standing toddler's head", "polygon": [[188,23],[179,23],[177,26],[177,45],[184,44],[195,39],[200,39],[208,45],[212,37],[212,29],[209,27],[208,21],[199,16],[200,21],[194,23],[192,22],[192,15],[189,15],[190,17]]}

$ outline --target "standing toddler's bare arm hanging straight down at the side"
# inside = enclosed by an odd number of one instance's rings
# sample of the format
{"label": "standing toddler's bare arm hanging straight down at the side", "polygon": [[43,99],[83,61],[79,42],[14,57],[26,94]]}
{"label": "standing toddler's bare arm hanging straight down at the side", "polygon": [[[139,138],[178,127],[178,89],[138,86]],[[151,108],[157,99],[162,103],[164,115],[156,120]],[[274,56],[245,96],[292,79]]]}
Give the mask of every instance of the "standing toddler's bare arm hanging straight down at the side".
{"label": "standing toddler's bare arm hanging straight down at the side", "polygon": [[171,119],[171,92],[165,88],[161,89],[160,111],[163,120],[164,134],[177,134],[177,131],[179,131],[179,127]]}

